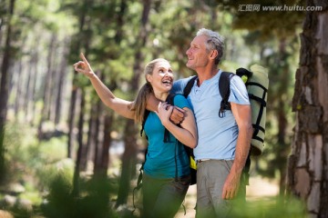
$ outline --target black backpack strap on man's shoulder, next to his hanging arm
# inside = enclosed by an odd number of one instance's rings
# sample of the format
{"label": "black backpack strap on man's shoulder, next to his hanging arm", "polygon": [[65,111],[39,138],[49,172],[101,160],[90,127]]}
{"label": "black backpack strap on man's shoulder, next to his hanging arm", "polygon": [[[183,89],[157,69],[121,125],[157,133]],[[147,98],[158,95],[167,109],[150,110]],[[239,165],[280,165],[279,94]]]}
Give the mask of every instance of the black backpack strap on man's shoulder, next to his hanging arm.
{"label": "black backpack strap on man's shoulder, next to his hanging arm", "polygon": [[231,78],[235,74],[230,72],[222,72],[220,74],[219,79],[219,92],[222,97],[222,101],[220,103],[220,110],[219,110],[219,117],[222,118],[225,116],[226,110],[231,110],[231,104],[229,103],[229,95],[231,93],[230,91],[230,84],[231,84]]}

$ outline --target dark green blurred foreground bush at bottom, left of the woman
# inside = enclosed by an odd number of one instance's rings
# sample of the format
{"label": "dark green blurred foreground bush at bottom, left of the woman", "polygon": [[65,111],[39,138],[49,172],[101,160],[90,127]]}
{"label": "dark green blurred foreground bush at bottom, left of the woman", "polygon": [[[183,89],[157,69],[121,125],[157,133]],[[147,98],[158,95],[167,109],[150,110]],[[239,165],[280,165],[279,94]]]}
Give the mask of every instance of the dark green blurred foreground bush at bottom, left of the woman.
{"label": "dark green blurred foreground bush at bottom, left of the woman", "polygon": [[71,179],[64,174],[57,174],[50,183],[47,202],[41,206],[46,217],[118,217],[110,205],[108,197],[114,190],[107,179],[81,181],[83,195],[73,196]]}

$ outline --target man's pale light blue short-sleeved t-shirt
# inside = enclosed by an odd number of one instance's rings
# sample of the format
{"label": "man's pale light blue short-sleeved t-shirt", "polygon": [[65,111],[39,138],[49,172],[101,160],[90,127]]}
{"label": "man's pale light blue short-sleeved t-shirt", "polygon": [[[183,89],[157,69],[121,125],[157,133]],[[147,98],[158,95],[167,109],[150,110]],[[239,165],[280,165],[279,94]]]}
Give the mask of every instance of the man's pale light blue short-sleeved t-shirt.
{"label": "man's pale light blue short-sleeved t-shirt", "polygon": [[[230,110],[225,116],[219,117],[222,97],[219,91],[221,71],[209,80],[205,80],[200,87],[197,80],[192,86],[188,101],[196,118],[199,141],[194,148],[196,160],[216,159],[233,160],[237,144],[238,126]],[[173,84],[172,93],[182,94],[190,78],[178,80]],[[231,78],[231,94],[229,102],[236,104],[250,104],[245,84],[239,76]]]}

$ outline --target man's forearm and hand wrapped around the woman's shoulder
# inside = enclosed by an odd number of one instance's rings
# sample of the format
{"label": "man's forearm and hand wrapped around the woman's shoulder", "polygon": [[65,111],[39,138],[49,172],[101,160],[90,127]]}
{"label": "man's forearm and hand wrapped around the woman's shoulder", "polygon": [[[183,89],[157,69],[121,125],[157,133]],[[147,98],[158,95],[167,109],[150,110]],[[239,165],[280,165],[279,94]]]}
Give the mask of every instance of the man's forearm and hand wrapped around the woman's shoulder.
{"label": "man's forearm and hand wrapped around the woman's shoulder", "polygon": [[[160,103],[159,99],[157,99],[154,94],[149,94],[146,109],[149,111],[158,112],[159,103]],[[169,120],[171,120],[173,124],[180,124],[183,121],[184,113],[185,111],[183,109],[174,106],[174,109],[169,117]]]}

